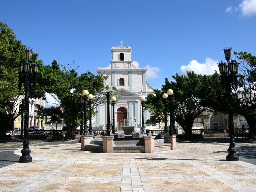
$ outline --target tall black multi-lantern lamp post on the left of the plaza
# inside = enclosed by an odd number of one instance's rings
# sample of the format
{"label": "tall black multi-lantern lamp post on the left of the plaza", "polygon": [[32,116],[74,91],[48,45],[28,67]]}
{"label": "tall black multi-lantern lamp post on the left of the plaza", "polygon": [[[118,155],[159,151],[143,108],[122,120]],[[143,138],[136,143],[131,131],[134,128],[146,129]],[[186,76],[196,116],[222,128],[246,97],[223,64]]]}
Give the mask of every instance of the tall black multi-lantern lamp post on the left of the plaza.
{"label": "tall black multi-lantern lamp post on the left of the plaza", "polygon": [[26,57],[27,60],[24,63],[21,63],[19,65],[19,88],[21,88],[21,85],[24,84],[25,88],[25,106],[24,106],[24,112],[25,112],[25,118],[24,118],[24,141],[23,141],[23,148],[20,151],[22,153],[22,156],[20,157],[20,163],[29,163],[32,162],[32,157],[30,154],[29,149],[29,141],[28,141],[28,120],[29,120],[29,93],[31,88],[31,82],[33,82],[34,88],[36,88],[36,78],[38,73],[39,66],[35,63],[31,63],[31,56],[32,56],[33,50],[28,49],[26,50]]}

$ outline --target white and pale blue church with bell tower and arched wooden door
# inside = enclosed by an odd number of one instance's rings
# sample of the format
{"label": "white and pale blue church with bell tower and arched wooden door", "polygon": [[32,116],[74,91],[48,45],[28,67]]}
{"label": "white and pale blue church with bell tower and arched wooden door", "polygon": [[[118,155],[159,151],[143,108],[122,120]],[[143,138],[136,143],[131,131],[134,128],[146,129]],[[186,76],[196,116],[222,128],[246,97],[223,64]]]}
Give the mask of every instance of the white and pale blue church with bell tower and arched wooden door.
{"label": "white and pale blue church with bell tower and arched wooden door", "polygon": [[[148,94],[154,93],[146,80],[147,68],[139,68],[132,62],[132,47],[115,46],[111,48],[112,60],[108,67],[97,68],[98,74],[108,76],[106,84],[116,87],[115,93],[115,127],[141,124],[140,96],[147,99]],[[111,101],[110,101],[111,103]],[[144,122],[150,117],[149,111],[144,111]],[[97,126],[107,124],[107,102],[97,106],[97,115],[93,117]],[[112,122],[112,106],[110,105],[110,122]]]}

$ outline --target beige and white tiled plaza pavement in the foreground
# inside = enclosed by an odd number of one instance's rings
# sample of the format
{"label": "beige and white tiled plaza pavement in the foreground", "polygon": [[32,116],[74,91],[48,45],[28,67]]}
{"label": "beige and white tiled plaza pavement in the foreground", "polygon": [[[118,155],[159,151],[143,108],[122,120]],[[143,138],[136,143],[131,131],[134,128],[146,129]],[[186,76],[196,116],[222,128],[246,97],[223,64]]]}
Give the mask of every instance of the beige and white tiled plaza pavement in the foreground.
{"label": "beige and white tiled plaza pavement in the foreground", "polygon": [[31,146],[32,163],[0,169],[0,191],[256,192],[256,165],[225,161],[227,148],[177,143],[174,151],[103,154],[79,143]]}

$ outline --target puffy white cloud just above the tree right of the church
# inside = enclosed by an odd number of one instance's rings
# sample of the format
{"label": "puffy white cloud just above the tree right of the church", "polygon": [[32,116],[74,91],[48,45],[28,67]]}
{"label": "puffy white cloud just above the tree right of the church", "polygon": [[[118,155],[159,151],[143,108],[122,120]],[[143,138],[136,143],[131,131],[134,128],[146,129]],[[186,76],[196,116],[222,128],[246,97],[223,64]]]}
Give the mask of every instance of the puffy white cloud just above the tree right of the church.
{"label": "puffy white cloud just above the tree right of the church", "polygon": [[206,57],[205,63],[198,63],[197,60],[191,60],[188,65],[182,65],[179,73],[186,75],[187,71],[194,71],[196,74],[212,75],[215,70],[219,71],[217,61]]}

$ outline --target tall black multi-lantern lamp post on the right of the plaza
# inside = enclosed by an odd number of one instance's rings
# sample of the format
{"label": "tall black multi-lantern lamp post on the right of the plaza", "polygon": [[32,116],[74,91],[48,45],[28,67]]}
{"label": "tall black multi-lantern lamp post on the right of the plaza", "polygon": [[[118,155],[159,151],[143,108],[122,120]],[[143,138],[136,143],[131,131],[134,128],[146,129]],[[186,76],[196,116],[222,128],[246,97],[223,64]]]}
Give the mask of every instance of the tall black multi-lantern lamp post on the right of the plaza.
{"label": "tall black multi-lantern lamp post on the right of the plaza", "polygon": [[238,72],[238,64],[231,60],[231,49],[225,49],[225,58],[227,60],[224,63],[221,61],[219,62],[219,70],[220,70],[220,77],[221,77],[221,84],[225,86],[226,90],[228,91],[228,127],[229,127],[229,148],[228,148],[228,155],[226,157],[227,161],[238,161],[239,156],[236,154],[236,146],[235,146],[235,138],[234,138],[234,119],[233,119],[233,96],[231,87],[237,89],[237,72]]}

